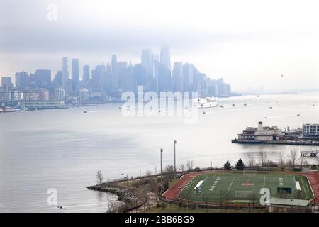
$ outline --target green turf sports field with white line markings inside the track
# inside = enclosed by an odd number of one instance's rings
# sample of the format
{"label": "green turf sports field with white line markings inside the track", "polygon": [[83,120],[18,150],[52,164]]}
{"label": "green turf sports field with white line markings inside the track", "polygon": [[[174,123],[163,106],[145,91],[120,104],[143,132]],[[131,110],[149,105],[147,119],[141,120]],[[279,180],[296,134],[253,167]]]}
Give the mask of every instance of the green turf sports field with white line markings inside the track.
{"label": "green turf sports field with white line markings inside the track", "polygon": [[[296,181],[301,187],[299,198],[296,197]],[[196,186],[198,186],[197,190]],[[290,187],[291,194],[278,194],[278,187]],[[257,172],[257,174],[256,172],[253,174],[245,172],[245,175],[242,172],[219,172],[197,175],[186,184],[178,197],[189,201],[213,203],[220,203],[227,198],[230,203],[245,204],[251,202],[252,199],[259,202],[262,196],[259,192],[262,188],[269,189],[273,197],[313,199],[313,193],[306,177],[272,172]]]}

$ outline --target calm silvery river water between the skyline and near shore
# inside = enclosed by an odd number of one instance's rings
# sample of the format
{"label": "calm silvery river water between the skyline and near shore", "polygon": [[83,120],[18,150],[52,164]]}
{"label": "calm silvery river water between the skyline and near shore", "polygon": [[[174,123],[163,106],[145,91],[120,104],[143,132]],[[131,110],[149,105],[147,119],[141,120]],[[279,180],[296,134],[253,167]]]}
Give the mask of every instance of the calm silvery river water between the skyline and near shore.
{"label": "calm silvery river water between the skyline and near shore", "polygon": [[[145,174],[163,166],[194,160],[194,167],[222,167],[247,154],[267,151],[269,160],[293,145],[230,143],[247,126],[301,127],[319,123],[319,94],[276,94],[219,99],[224,108],[198,111],[195,124],[181,117],[123,117],[122,104],[0,114],[0,211],[103,212],[111,194],[92,192],[96,172],[106,179]],[[236,107],[231,107],[235,103]],[[247,106],[244,106],[247,103]],[[315,104],[315,106],[313,106]],[[272,109],[269,107],[272,106]],[[206,111],[206,114],[203,114]],[[300,116],[297,116],[300,114]],[[267,118],[264,118],[267,117]],[[306,149],[303,147],[303,149]],[[309,159],[309,162],[314,160]],[[159,171],[157,171],[159,172]],[[63,209],[47,205],[47,189],[57,189]]]}

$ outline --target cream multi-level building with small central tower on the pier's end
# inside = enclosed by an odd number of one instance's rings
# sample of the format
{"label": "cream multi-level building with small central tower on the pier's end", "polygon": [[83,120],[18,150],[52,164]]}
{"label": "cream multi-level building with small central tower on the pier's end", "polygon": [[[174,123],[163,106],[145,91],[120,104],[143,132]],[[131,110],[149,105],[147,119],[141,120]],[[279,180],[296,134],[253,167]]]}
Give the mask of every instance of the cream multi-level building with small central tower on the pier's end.
{"label": "cream multi-level building with small central tower on the pier's end", "polygon": [[259,121],[258,127],[247,127],[238,134],[238,140],[279,140],[284,136],[277,126],[263,126]]}

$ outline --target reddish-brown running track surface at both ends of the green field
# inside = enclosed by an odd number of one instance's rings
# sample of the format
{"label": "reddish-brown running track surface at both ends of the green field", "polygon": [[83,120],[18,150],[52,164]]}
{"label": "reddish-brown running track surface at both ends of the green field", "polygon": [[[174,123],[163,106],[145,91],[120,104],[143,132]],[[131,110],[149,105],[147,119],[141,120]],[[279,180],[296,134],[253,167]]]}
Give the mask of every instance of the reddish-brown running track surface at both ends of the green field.
{"label": "reddish-brown running track surface at both ends of the green field", "polygon": [[[214,171],[214,172],[216,172],[216,171]],[[219,172],[219,171],[217,171],[217,172]],[[188,184],[191,181],[191,179],[193,179],[193,177],[195,177],[196,175],[202,175],[204,173],[205,172],[191,172],[189,174],[183,175],[181,177],[181,179],[179,179],[179,181],[176,184],[174,184],[172,187],[167,189],[167,191],[165,191],[162,194],[162,197],[164,197],[164,199],[177,201],[177,195],[186,186],[186,184]],[[318,204],[318,202],[319,202],[319,175],[318,175],[318,172],[310,172],[310,173],[285,172],[284,174],[303,175],[303,176],[308,177],[311,188],[313,189],[313,193],[315,194],[315,204]]]}

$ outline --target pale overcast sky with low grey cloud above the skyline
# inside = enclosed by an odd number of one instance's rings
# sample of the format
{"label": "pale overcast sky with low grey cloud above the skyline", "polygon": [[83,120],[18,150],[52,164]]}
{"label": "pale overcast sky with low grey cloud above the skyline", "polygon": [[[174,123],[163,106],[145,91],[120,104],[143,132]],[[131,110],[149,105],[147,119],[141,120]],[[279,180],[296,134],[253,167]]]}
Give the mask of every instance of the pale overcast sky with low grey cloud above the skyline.
{"label": "pale overcast sky with low grey cloud above the skyline", "polygon": [[[57,21],[47,19],[56,4]],[[52,69],[62,57],[91,67],[140,62],[140,50],[169,45],[171,60],[191,62],[242,91],[319,89],[316,1],[0,0],[0,77]],[[284,74],[284,77],[280,77]]]}

